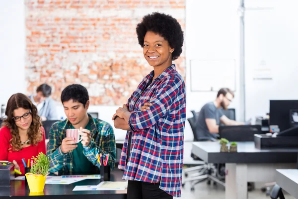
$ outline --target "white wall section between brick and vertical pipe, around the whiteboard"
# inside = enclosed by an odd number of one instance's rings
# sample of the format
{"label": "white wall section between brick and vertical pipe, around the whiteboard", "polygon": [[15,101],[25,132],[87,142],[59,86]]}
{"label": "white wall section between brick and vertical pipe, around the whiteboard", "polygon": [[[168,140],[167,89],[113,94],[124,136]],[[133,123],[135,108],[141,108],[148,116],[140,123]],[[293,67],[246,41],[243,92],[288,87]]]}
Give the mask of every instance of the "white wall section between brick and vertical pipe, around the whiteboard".
{"label": "white wall section between brick and vertical pipe, around the whiteboard", "polygon": [[[188,113],[192,109],[199,111],[206,102],[215,100],[217,95],[217,92],[191,92],[190,60],[235,59],[236,92],[229,107],[236,108],[236,119],[240,118],[238,4],[238,0],[186,0],[185,45]],[[188,116],[191,115],[188,114]]]}

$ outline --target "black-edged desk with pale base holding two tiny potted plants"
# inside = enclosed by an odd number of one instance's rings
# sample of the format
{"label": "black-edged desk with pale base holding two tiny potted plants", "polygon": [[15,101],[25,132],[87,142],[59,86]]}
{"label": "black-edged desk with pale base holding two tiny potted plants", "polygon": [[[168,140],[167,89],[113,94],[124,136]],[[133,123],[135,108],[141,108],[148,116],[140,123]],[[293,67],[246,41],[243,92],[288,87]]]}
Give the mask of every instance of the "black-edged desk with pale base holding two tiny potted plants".
{"label": "black-edged desk with pale base holding two tiny potted plants", "polygon": [[247,182],[274,182],[276,169],[296,168],[298,149],[256,149],[237,142],[237,153],[220,152],[219,142],[194,142],[192,152],[207,163],[225,163],[225,199],[246,199]]}

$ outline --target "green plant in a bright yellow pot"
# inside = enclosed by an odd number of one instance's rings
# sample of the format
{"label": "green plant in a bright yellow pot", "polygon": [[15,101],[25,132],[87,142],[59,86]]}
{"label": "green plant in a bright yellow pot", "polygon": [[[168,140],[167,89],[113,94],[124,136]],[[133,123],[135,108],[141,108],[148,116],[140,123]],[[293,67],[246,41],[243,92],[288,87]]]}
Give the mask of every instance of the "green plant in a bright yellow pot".
{"label": "green plant in a bright yellow pot", "polygon": [[26,179],[30,192],[43,192],[48,170],[50,168],[49,158],[40,152],[36,157],[31,158],[33,164],[30,173],[26,173]]}

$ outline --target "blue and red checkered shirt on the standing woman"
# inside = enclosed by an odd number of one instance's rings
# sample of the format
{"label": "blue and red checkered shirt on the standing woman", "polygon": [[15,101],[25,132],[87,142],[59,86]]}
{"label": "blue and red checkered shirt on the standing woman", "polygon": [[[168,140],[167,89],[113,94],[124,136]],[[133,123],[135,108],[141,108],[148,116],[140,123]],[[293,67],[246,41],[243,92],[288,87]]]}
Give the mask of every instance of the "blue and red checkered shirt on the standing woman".
{"label": "blue and red checkered shirt on the standing woman", "polygon": [[[152,71],[128,100],[130,130],[126,134],[118,168],[124,170],[125,180],[160,182],[161,190],[180,197],[185,85],[174,64],[152,81],[153,76]],[[149,110],[141,111],[145,102],[152,105]],[[126,164],[130,134],[131,151]]]}

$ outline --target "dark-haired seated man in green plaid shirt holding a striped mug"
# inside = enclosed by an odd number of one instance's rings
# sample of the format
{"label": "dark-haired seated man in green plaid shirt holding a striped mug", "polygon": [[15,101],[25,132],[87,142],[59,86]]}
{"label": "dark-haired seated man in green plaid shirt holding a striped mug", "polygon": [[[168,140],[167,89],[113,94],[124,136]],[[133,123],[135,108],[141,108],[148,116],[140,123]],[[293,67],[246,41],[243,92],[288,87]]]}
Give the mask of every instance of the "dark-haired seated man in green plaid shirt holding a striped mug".
{"label": "dark-haired seated man in green plaid shirt holding a striped mug", "polygon": [[[87,114],[89,95],[86,88],[73,84],[61,94],[67,119],[54,123],[50,129],[47,156],[50,160],[50,173],[96,174],[100,164],[96,154],[102,154],[108,165],[114,168],[116,142],[112,126]],[[75,143],[66,137],[67,129],[80,129],[81,141]]]}

